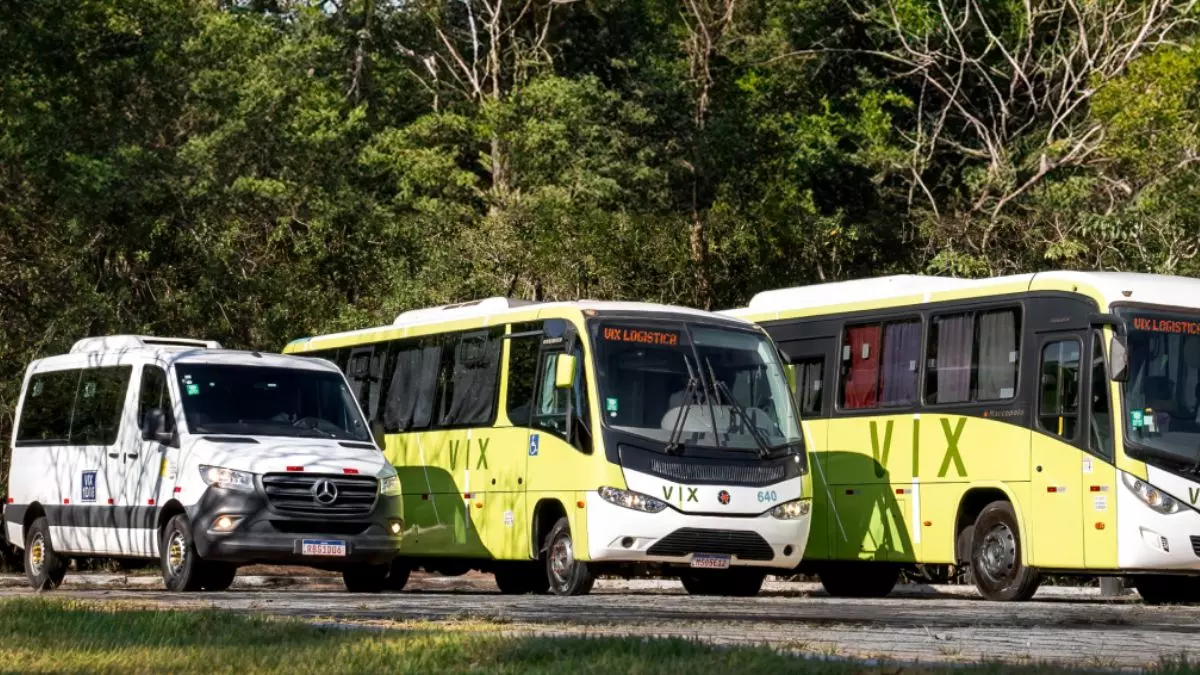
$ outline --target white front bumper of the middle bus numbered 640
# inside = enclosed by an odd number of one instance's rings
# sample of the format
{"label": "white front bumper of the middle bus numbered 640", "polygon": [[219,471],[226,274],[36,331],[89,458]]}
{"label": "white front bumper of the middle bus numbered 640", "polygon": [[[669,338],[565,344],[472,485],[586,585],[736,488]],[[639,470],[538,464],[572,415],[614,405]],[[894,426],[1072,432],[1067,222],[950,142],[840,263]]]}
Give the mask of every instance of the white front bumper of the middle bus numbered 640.
{"label": "white front bumper of the middle bus numbered 640", "polygon": [[[588,554],[595,562],[688,567],[696,554],[728,556],[731,567],[792,569],[809,540],[811,512],[792,520],[701,515],[671,507],[644,513],[587,496]],[[704,556],[702,556],[704,557]]]}

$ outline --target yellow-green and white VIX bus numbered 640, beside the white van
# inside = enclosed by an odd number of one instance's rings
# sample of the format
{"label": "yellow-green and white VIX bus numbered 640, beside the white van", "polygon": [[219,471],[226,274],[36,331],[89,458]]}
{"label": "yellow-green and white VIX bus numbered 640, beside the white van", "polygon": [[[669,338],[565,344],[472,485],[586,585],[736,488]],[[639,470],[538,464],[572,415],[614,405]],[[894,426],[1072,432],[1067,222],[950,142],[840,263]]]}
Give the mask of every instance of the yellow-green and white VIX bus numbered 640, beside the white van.
{"label": "yellow-green and white VIX bus numbered 640, beside the white van", "polygon": [[[401,555],[414,567],[536,561],[563,518],[575,560],[598,565],[790,569],[804,551],[800,428],[778,352],[752,323],[661,305],[492,298],[284,351],[346,371],[400,474]],[[714,431],[732,408],[683,406],[691,412],[680,422],[668,398],[700,360],[769,404],[779,434],[767,449]]]}

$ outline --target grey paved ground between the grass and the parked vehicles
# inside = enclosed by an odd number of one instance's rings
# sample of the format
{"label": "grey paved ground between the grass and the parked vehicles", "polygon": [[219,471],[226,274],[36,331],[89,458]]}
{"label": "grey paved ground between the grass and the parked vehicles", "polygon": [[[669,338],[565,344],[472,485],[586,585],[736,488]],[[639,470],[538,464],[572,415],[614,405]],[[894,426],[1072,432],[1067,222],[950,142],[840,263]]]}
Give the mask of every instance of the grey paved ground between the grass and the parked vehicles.
{"label": "grey paved ground between the grass and the parked vehicles", "polygon": [[[336,578],[271,587],[268,578],[248,577],[239,578],[233,591],[182,596],[144,579],[104,589],[85,587],[80,577],[71,584],[68,577],[56,595],[217,607],[347,626],[482,620],[516,634],[678,635],[906,662],[1032,659],[1135,668],[1181,655],[1200,661],[1200,608],[1145,607],[1135,595],[1105,599],[1097,590],[1044,589],[1034,602],[1003,604],[977,599],[961,587],[906,587],[899,597],[850,601],[823,597],[811,584],[775,583],[757,598],[694,598],[674,581],[606,581],[590,596],[558,598],[500,596],[488,578],[473,575],[414,577],[403,593],[371,596],[341,591]],[[0,597],[28,593],[12,583],[0,585]]]}

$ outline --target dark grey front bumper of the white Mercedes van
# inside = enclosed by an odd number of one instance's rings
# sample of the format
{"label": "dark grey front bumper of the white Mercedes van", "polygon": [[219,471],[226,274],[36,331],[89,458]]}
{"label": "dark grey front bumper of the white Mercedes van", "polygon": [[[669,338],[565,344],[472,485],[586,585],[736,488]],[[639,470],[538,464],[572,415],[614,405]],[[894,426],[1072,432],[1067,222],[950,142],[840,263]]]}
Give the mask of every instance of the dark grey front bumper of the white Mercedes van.
{"label": "dark grey front bumper of the white Mercedes van", "polygon": [[[304,565],[337,568],[354,563],[384,565],[400,552],[403,532],[400,496],[380,495],[362,516],[302,516],[270,508],[258,490],[209,488],[187,509],[196,552],[206,560],[236,563]],[[235,521],[221,530],[222,516]],[[394,525],[397,533],[392,533]],[[305,540],[341,542],[346,555],[305,555]]]}

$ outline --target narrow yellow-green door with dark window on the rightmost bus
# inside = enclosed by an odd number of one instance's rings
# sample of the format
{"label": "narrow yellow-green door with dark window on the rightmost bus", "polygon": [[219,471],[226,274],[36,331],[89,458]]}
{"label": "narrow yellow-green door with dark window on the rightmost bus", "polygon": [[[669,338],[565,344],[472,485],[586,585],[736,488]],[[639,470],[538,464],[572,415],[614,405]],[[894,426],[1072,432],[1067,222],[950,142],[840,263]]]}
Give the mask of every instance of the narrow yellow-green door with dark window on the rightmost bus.
{"label": "narrow yellow-green door with dark window on the rightmost bus", "polygon": [[1027,563],[1082,568],[1084,513],[1080,460],[1086,443],[1080,411],[1084,340],[1052,333],[1038,342],[1038,398],[1031,459],[1032,509],[1026,514]]}

